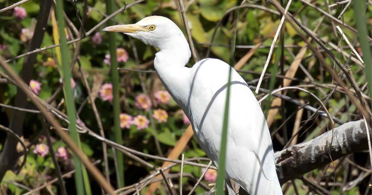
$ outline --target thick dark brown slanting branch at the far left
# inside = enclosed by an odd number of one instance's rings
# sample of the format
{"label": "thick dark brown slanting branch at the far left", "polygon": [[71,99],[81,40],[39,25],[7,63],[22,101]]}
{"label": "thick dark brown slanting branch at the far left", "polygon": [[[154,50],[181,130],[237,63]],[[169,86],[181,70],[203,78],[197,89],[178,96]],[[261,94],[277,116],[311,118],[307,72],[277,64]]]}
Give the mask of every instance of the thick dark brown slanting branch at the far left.
{"label": "thick dark brown slanting branch at the far left", "polygon": [[[35,32],[32,39],[30,40],[27,51],[33,51],[40,48],[41,42],[44,38],[44,32],[48,25],[48,16],[51,9],[53,1],[42,0],[40,3],[40,13],[36,22]],[[35,64],[37,53],[26,56],[23,61],[22,71],[20,76],[23,81],[29,83],[31,80],[31,72],[33,69],[33,64]],[[26,108],[27,96],[18,88],[17,95],[15,97],[15,107]],[[25,112],[20,110],[15,110],[13,116],[10,120],[9,129],[12,129],[18,136],[23,135],[23,121],[25,119]],[[7,139],[4,143],[3,151],[0,155],[0,181],[3,179],[5,173],[9,169],[13,169],[16,165],[19,155],[17,155],[18,140],[8,134]]]}

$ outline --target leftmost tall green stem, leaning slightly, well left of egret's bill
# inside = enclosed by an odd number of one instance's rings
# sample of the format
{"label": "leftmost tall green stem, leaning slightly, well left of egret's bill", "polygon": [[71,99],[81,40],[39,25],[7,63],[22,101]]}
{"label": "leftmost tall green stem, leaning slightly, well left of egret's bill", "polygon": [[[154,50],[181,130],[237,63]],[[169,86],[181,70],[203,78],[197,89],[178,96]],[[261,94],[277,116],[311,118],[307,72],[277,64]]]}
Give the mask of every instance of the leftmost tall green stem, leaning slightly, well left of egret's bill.
{"label": "leftmost tall green stem, leaning slightly, well left of egret's bill", "polygon": [[[60,33],[60,48],[61,48],[61,60],[62,60],[62,76],[64,83],[64,95],[67,105],[67,115],[70,125],[68,129],[70,130],[71,138],[75,143],[80,145],[79,135],[76,131],[76,115],[74,107],[74,97],[73,91],[71,89],[71,72],[70,72],[70,55],[67,50],[66,35],[65,35],[65,21],[63,17],[63,2],[62,0],[56,0],[55,6],[57,12],[58,28]],[[73,162],[75,165],[75,184],[76,191],[78,195],[84,195],[84,183],[83,174],[81,172],[81,161],[74,154]]]}

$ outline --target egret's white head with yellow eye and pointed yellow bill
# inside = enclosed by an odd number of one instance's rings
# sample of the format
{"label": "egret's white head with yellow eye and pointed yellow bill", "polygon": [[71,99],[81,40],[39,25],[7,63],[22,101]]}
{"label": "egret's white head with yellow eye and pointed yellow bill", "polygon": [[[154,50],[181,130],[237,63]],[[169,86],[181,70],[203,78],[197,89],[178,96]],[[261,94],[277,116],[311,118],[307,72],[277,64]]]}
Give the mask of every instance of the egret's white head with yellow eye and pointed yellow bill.
{"label": "egret's white head with yellow eye and pointed yellow bill", "polygon": [[174,43],[177,39],[186,40],[179,27],[163,16],[148,16],[135,24],[109,26],[103,30],[124,33],[159,49],[164,48],[166,43]]}

